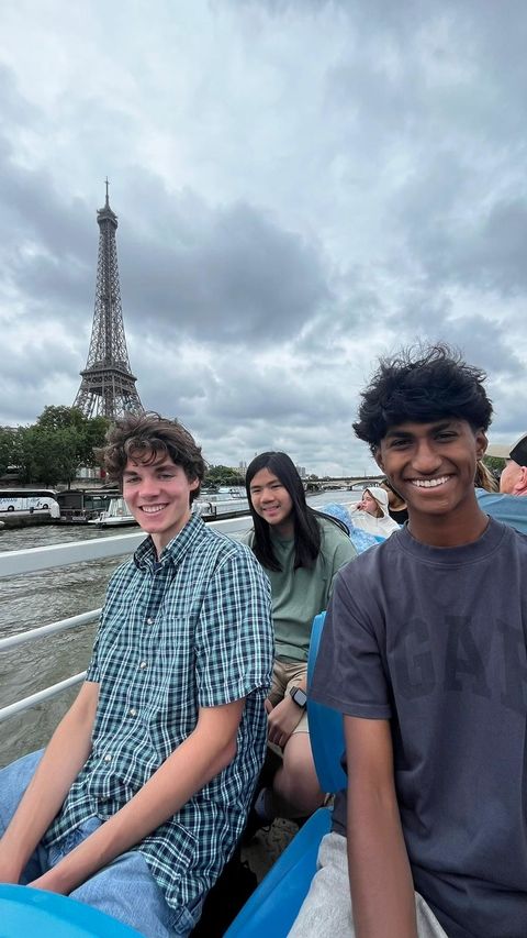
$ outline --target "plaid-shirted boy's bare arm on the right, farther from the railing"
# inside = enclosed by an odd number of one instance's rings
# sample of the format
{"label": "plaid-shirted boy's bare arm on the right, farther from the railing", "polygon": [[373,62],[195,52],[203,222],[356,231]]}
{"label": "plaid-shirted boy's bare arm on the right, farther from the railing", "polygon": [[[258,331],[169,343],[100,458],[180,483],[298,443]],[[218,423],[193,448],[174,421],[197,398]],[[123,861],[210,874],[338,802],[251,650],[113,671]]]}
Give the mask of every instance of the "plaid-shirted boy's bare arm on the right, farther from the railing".
{"label": "plaid-shirted boy's bare arm on the right, farther from the railing", "polygon": [[113,817],[31,885],[68,895],[172,817],[236,754],[245,698],[201,707],[194,730]]}

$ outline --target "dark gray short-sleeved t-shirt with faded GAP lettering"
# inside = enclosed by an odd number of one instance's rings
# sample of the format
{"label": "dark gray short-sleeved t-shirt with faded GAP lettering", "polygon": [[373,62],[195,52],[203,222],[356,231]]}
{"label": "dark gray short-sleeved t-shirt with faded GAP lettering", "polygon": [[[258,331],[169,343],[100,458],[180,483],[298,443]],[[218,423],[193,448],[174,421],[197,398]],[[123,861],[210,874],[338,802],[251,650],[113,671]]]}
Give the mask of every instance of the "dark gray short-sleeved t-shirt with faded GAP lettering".
{"label": "dark gray short-sleeved t-shirt with faded GAP lettering", "polygon": [[406,529],[338,575],[312,696],[390,719],[416,890],[449,938],[527,936],[527,537]]}

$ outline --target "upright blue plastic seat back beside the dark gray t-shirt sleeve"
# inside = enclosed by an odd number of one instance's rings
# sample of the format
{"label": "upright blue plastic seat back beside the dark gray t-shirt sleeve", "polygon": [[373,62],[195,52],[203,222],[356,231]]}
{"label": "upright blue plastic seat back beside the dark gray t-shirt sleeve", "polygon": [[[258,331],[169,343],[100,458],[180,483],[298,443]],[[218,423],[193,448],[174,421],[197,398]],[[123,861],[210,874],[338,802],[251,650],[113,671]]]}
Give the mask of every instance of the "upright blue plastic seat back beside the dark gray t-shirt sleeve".
{"label": "upright blue plastic seat back beside the dark gray t-shirt sleeve", "polygon": [[[313,619],[307,659],[307,687],[311,687],[313,681],[325,617],[325,613],[319,613]],[[307,719],[316,774],[323,792],[338,792],[340,788],[346,788],[348,780],[340,765],[340,758],[345,751],[341,714],[324,704],[317,704],[307,694]]]}

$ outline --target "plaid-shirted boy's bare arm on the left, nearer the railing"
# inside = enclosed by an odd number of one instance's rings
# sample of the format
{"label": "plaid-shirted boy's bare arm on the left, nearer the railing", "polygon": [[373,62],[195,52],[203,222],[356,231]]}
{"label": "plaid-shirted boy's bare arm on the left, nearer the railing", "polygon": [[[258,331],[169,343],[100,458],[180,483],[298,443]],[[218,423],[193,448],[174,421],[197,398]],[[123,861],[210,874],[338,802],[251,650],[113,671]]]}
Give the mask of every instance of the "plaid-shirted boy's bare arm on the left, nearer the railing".
{"label": "plaid-shirted boy's bare arm on the left, nearer the railing", "polygon": [[0,881],[18,883],[91,751],[99,684],[85,682],[59,722],[0,841]]}

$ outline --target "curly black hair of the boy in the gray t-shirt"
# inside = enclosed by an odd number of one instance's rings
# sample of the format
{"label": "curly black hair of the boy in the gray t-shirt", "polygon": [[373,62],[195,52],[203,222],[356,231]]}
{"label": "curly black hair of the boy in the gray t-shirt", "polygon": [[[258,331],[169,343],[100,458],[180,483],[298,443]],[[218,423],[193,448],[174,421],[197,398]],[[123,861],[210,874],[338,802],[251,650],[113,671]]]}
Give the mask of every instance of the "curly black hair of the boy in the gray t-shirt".
{"label": "curly black hair of the boy in the gray t-shirt", "polygon": [[354,430],[372,453],[390,427],[407,420],[426,423],[457,417],[473,430],[486,430],[492,401],[483,387],[485,378],[485,372],[468,365],[459,350],[444,343],[403,349],[380,360],[361,394]]}

